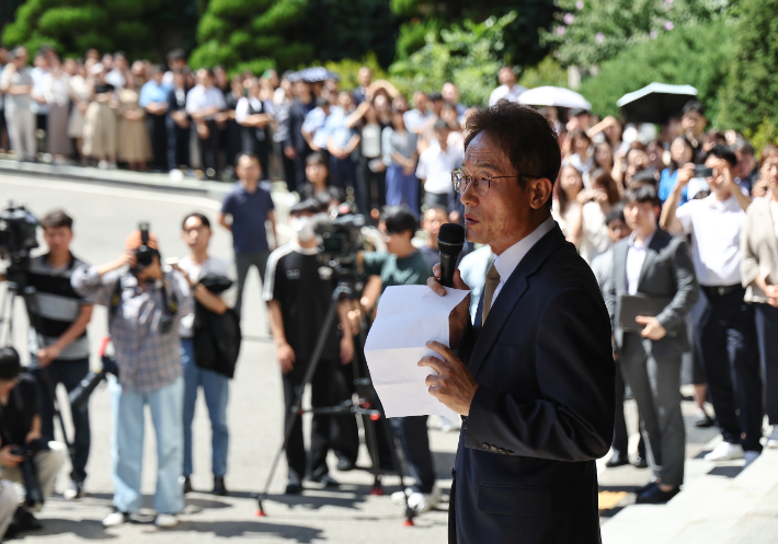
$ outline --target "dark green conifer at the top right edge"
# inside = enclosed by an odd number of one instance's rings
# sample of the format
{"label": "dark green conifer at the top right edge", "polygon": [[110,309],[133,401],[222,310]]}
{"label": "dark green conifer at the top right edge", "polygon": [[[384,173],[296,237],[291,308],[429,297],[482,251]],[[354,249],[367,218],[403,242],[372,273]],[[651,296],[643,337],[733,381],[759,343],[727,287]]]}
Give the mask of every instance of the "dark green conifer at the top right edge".
{"label": "dark green conifer at the top right edge", "polygon": [[778,0],[743,0],[734,55],[719,101],[722,126],[757,130],[778,125]]}

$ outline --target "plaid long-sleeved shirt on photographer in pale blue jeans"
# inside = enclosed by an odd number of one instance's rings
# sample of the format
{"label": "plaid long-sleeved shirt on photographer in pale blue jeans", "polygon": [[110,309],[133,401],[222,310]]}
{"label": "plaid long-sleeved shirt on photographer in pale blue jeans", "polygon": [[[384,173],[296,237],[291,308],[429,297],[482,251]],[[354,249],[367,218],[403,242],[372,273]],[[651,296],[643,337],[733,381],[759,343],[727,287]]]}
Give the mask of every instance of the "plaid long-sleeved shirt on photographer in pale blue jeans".
{"label": "plaid long-sleeved shirt on photographer in pale blue jeans", "polygon": [[138,393],[157,391],[183,375],[178,329],[182,317],[192,312],[194,304],[190,286],[181,274],[165,273],[164,281],[168,301],[178,301],[179,310],[172,328],[163,334],[160,321],[167,309],[160,287],[148,283],[141,289],[129,271],[114,270],[101,278],[96,266],[83,266],[72,277],[77,292],[110,310],[117,283],[121,286],[121,302],[108,317],[108,331],[114,343],[119,383]]}

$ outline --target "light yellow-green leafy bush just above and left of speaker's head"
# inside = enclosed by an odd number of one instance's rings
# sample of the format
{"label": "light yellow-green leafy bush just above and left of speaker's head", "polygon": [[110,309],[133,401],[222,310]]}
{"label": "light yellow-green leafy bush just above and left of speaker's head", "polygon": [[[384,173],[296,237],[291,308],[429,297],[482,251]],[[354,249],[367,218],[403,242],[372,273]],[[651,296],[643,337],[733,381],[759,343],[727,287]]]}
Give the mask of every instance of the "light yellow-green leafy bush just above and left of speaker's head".
{"label": "light yellow-green leafy bush just above and left of speaker's head", "polygon": [[409,94],[415,90],[439,91],[446,81],[459,88],[462,103],[480,105],[497,83],[497,71],[505,58],[495,51],[504,48],[505,27],[516,18],[510,12],[502,18],[489,18],[482,23],[465,20],[426,35],[424,47],[408,59],[389,67],[389,76],[398,89]]}

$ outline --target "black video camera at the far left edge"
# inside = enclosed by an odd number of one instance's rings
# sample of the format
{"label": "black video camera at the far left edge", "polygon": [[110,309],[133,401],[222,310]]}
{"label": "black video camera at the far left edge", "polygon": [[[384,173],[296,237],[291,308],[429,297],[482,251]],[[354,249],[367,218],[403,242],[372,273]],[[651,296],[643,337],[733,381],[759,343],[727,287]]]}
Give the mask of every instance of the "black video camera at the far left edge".
{"label": "black video camera at the far left edge", "polygon": [[5,273],[8,280],[24,285],[30,265],[30,252],[38,246],[38,220],[24,207],[24,204],[8,202],[8,208],[0,212],[0,258],[8,258],[11,264]]}

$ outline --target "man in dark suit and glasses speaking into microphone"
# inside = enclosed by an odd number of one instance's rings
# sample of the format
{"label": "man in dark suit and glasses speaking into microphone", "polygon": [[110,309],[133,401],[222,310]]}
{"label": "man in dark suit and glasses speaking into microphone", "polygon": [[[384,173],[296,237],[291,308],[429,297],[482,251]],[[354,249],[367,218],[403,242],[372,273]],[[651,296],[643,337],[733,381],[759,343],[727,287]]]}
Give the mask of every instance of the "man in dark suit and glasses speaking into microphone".
{"label": "man in dark suit and glasses speaking into microphone", "polygon": [[[467,235],[496,255],[471,325],[419,364],[462,418],[449,542],[599,543],[597,470],[614,432],[610,323],[592,270],[551,218],[561,163],[553,126],[497,104],[467,123],[453,174]],[[467,289],[459,273],[455,287]],[[434,278],[428,285],[445,294]],[[455,354],[453,349],[457,349]]]}

